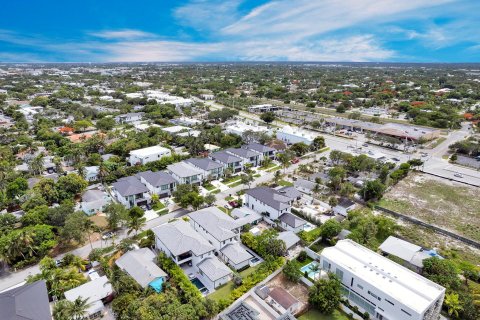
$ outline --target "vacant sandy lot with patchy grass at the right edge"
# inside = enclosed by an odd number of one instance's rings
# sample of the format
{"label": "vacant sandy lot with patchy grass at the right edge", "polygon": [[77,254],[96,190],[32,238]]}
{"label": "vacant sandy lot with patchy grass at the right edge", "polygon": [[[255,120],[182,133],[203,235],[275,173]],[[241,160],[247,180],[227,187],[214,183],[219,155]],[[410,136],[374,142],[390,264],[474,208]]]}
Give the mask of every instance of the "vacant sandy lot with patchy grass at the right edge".
{"label": "vacant sandy lot with patchy grass at the right edge", "polygon": [[391,188],[381,206],[480,240],[480,189],[423,174]]}

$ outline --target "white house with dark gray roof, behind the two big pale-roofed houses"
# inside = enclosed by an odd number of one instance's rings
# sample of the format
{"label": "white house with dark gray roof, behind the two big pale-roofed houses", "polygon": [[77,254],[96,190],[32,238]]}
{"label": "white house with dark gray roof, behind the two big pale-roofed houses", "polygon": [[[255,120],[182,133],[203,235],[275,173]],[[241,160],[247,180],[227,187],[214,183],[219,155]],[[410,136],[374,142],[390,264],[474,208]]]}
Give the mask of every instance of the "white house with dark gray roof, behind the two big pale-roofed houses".
{"label": "white house with dark gray roof, behind the two big pale-roofed houses", "polygon": [[282,214],[290,212],[293,200],[275,189],[257,187],[245,191],[244,205],[270,220],[276,220]]}

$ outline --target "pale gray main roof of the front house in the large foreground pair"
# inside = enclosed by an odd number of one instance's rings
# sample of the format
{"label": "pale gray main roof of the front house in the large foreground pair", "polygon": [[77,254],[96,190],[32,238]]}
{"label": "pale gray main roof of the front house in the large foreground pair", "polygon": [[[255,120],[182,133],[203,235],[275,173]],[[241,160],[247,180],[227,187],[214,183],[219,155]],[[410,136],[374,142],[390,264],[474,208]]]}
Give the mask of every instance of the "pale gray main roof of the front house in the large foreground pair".
{"label": "pale gray main roof of the front house in the large foreground pair", "polygon": [[198,234],[188,222],[177,220],[152,228],[155,236],[174,255],[192,252],[196,256],[210,252],[215,248]]}

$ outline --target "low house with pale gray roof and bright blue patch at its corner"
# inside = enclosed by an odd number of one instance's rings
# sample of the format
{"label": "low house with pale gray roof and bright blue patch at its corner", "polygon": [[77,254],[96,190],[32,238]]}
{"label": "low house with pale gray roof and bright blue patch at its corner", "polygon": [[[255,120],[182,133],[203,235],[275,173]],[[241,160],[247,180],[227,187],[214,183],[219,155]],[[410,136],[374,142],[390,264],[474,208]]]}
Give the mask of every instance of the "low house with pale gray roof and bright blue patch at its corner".
{"label": "low house with pale gray roof and bright blue patch at its corner", "polygon": [[155,263],[156,254],[149,248],[141,248],[125,253],[115,264],[142,288],[150,286],[156,292],[162,291],[167,274]]}

